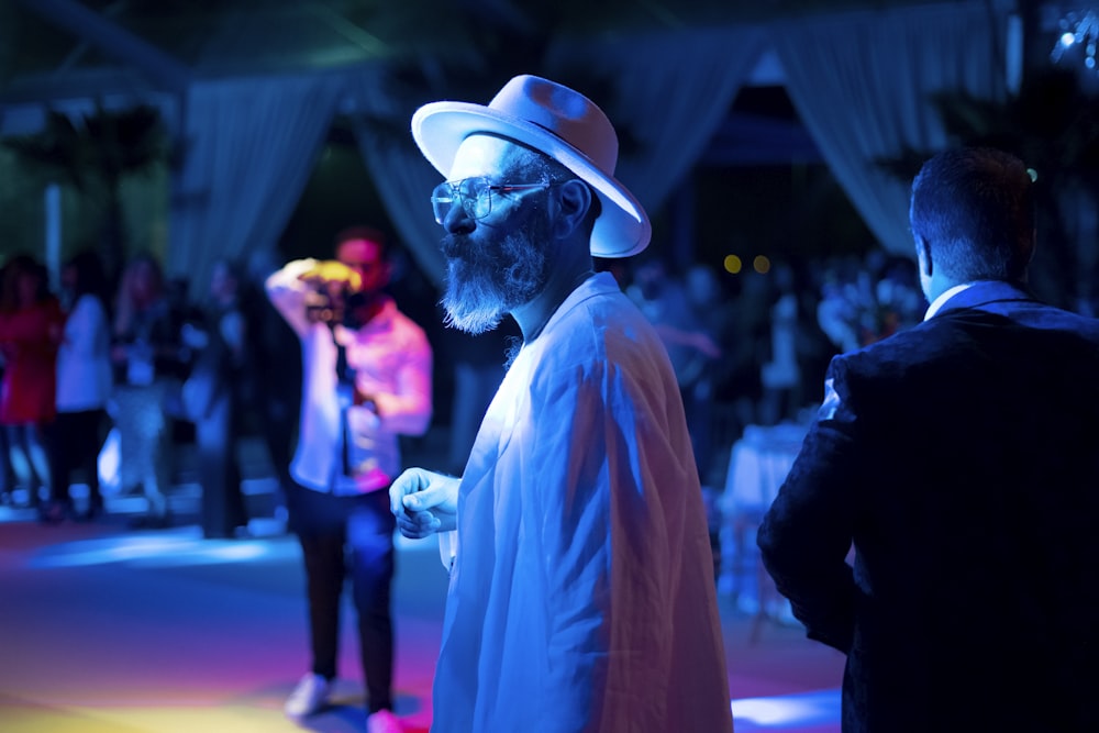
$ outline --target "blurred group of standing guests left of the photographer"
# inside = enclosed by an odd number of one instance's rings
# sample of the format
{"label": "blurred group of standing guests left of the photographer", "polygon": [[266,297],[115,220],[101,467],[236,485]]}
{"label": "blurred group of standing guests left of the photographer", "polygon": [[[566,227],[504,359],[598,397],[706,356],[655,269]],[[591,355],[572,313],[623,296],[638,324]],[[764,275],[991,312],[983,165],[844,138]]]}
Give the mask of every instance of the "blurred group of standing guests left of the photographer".
{"label": "blurred group of standing guests left of the photographer", "polygon": [[[147,254],[131,258],[113,285],[93,251],[65,262],[56,278],[33,256],[8,258],[0,268],[0,501],[33,508],[47,524],[90,521],[103,513],[109,488],[144,499],[134,526],[169,526],[176,447],[188,442],[203,535],[245,534],[238,440],[249,431],[269,438],[281,474],[292,440],[282,426],[296,419],[299,389],[295,359],[262,368],[286,348],[287,334],[263,297],[266,271],[253,274],[219,262],[197,300]],[[115,470],[101,462],[108,443]],[[78,481],[87,487],[79,501]]]}

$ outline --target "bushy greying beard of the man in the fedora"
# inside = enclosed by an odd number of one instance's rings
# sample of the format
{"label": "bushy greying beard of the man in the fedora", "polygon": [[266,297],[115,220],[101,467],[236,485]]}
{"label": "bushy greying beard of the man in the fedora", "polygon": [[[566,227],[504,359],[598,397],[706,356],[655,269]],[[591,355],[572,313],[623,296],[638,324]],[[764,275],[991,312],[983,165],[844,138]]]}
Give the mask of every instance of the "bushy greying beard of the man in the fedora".
{"label": "bushy greying beard of the man in the fedora", "polygon": [[[509,234],[489,256],[447,258],[442,300],[446,325],[474,335],[485,333],[533,300],[548,274],[544,248],[532,240],[523,233]],[[469,253],[471,246],[463,251]]]}

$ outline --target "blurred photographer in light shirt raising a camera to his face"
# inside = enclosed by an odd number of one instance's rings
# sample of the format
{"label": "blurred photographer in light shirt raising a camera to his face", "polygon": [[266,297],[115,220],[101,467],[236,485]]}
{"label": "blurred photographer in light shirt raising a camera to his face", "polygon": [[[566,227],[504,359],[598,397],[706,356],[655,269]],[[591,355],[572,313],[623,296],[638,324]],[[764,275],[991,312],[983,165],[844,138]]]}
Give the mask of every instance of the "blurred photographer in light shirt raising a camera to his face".
{"label": "blurred photographer in light shirt raising a camera to his face", "polygon": [[287,509],[306,564],[313,662],[286,713],[301,718],[326,703],[349,574],[369,733],[400,730],[391,713],[395,519],[387,490],[401,469],[398,435],[422,434],[432,410],[431,346],[385,292],[385,247],[374,230],[345,230],[335,260],[295,260],[266,281],[270,302],[302,347]]}

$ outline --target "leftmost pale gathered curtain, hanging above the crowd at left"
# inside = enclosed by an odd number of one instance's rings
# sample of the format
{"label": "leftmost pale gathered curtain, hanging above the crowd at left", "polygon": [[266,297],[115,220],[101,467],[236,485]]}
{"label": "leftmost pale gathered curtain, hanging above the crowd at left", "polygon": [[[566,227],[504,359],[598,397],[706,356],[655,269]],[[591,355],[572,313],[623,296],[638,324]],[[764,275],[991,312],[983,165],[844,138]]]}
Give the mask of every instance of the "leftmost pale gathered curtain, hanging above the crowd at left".
{"label": "leftmost pale gathered curtain, hanging above the crowd at left", "polygon": [[219,257],[269,253],[309,181],[344,88],[338,75],[197,82],[174,176],[169,275],[208,292]]}

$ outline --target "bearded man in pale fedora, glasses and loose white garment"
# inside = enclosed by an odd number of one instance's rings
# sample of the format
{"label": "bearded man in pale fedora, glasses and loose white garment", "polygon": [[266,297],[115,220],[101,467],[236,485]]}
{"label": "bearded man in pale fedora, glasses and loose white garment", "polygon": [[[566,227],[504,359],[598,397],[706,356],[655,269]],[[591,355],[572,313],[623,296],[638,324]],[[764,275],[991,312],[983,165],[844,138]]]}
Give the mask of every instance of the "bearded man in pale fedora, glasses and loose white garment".
{"label": "bearded man in pale fedora, glasses and loose white garment", "polygon": [[487,107],[421,108],[412,134],[447,179],[449,323],[522,332],[462,477],[410,469],[390,489],[401,532],[442,533],[451,566],[432,731],[731,731],[676,376],[592,273],[650,238],[610,121],[522,76]]}

